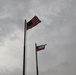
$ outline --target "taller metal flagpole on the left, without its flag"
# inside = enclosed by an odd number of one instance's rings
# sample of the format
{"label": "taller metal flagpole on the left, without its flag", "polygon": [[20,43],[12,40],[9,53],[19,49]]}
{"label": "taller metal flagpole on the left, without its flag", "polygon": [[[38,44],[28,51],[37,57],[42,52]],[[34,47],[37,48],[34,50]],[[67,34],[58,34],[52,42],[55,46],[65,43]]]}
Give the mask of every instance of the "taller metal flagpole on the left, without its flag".
{"label": "taller metal flagpole on the left, without its flag", "polygon": [[27,22],[25,20],[25,23],[24,23],[24,50],[23,50],[23,75],[25,75],[26,29],[27,29]]}

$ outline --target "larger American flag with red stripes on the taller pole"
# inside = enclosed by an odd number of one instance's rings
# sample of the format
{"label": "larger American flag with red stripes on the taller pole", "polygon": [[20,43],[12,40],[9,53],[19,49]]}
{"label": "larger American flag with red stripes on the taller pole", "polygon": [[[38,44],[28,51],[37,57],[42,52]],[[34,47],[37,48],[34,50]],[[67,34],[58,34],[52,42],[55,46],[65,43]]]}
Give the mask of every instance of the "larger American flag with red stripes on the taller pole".
{"label": "larger American flag with red stripes on the taller pole", "polygon": [[34,16],[29,22],[27,22],[27,30],[31,29],[32,27],[36,26],[41,21],[37,16]]}

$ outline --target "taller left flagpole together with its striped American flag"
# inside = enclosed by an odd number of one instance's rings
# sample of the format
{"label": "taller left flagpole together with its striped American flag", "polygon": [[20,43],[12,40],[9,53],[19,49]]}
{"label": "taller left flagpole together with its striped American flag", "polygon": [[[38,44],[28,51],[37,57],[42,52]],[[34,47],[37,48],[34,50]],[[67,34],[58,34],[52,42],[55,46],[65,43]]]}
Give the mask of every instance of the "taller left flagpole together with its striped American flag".
{"label": "taller left flagpole together with its striped American flag", "polygon": [[35,27],[38,23],[41,21],[37,16],[34,16],[29,22],[25,20],[24,24],[24,50],[23,50],[23,75],[25,75],[25,54],[26,54],[26,31],[28,29],[31,29],[32,27]]}

